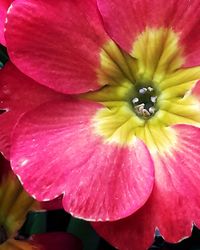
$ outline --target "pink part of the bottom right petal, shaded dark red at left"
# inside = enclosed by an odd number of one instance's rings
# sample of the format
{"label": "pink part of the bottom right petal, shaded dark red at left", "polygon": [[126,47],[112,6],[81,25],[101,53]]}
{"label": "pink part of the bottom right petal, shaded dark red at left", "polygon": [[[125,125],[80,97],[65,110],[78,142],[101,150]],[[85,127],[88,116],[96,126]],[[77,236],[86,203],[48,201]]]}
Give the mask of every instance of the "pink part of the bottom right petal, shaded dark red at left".
{"label": "pink part of the bottom right petal, shaded dark red at left", "polygon": [[148,202],[117,222],[94,223],[97,232],[119,249],[147,249],[156,227],[177,242],[200,226],[200,128],[176,125],[178,145],[171,155],[154,156],[155,186]]}

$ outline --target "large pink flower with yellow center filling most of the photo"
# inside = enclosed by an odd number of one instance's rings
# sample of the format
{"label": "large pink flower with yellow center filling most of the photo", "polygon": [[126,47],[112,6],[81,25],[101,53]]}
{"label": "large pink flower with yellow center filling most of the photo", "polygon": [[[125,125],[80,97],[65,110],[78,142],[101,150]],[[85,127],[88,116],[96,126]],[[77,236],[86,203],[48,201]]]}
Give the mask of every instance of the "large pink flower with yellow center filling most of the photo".
{"label": "large pink flower with yellow center filling most of the photo", "polygon": [[[20,111],[12,168],[38,200],[63,194],[71,214],[109,221],[93,225],[120,249],[146,249],[156,227],[175,242],[200,226],[199,13],[199,0],[16,0],[9,8],[10,59],[46,86],[28,100],[18,92],[21,107],[39,101]],[[18,105],[13,81],[0,90],[10,98],[3,115]]]}

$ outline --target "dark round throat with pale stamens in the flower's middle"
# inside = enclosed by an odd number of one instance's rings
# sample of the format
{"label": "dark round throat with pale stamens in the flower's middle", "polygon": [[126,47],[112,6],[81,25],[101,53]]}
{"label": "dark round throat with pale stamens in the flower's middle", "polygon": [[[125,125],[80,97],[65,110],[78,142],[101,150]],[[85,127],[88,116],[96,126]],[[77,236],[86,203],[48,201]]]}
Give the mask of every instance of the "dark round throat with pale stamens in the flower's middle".
{"label": "dark round throat with pale stamens in the flower's middle", "polygon": [[136,86],[136,94],[132,98],[132,104],[137,116],[149,119],[155,114],[157,93],[152,86]]}

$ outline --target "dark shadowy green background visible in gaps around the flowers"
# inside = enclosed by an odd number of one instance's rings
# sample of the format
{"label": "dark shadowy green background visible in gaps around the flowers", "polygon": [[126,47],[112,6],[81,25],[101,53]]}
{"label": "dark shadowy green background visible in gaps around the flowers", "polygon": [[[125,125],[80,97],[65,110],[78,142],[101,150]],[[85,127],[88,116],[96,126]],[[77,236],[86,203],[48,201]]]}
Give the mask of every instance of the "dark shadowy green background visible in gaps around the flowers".
{"label": "dark shadowy green background visible in gaps around the flowers", "polygon": [[[6,48],[0,45],[0,68],[8,59]],[[29,213],[18,238],[46,232],[69,232],[82,241],[84,250],[115,250],[96,234],[89,222],[73,218],[64,210]],[[149,250],[200,250],[200,230],[194,227],[192,236],[178,244],[167,243],[157,235]]]}

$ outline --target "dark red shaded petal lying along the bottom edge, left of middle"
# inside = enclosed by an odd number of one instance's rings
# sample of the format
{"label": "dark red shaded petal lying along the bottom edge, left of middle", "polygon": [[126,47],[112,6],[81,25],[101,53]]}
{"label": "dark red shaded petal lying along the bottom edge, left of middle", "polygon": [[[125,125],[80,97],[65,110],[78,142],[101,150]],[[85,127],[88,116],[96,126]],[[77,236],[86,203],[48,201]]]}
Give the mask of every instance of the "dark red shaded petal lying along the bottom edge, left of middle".
{"label": "dark red shaded petal lying along the bottom edge, left of middle", "polygon": [[[46,233],[31,237],[30,243],[40,245],[41,250],[81,250],[81,241],[69,233]],[[39,248],[40,249],[40,248]]]}

